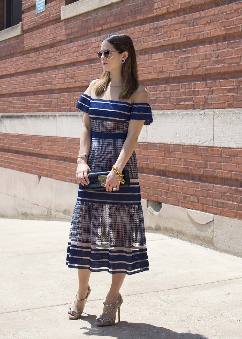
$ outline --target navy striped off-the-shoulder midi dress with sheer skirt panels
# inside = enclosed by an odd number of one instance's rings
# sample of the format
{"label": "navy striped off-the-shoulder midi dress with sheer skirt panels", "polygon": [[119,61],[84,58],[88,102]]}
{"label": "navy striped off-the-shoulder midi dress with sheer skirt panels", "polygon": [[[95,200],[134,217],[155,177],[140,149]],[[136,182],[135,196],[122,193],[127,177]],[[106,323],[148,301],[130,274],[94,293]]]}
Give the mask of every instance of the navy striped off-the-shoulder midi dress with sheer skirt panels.
{"label": "navy striped off-the-shoulder midi dress with sheer skirt panels", "polygon": [[[152,123],[148,103],[94,99],[83,93],[76,105],[88,113],[92,143],[87,164],[92,173],[111,171],[127,136],[130,119]],[[66,265],[91,272],[135,274],[149,270],[135,151],[124,169],[130,186],[106,192],[79,184],[67,246]]]}

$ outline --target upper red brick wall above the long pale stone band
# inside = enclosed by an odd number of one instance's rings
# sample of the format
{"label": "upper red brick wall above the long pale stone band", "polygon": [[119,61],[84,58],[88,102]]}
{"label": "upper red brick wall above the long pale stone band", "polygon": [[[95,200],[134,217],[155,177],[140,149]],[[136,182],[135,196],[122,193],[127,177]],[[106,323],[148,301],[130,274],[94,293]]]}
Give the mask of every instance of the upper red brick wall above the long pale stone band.
{"label": "upper red brick wall above the long pale stone band", "polygon": [[0,43],[1,112],[75,111],[102,72],[95,52],[117,20],[153,109],[242,106],[242,1],[125,0],[69,20],[60,19],[64,0],[37,15],[34,4],[23,0],[24,36]]}

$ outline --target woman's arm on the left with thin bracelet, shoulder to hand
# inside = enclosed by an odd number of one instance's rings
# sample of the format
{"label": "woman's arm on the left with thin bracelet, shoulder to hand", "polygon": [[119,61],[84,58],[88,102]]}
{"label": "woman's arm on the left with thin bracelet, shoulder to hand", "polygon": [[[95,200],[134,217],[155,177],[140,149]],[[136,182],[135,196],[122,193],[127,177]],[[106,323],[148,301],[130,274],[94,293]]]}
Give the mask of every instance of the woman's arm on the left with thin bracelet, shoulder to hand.
{"label": "woman's arm on the left with thin bracelet, shoulder to hand", "polygon": [[[90,82],[89,86],[84,92],[85,94],[89,96],[91,96],[93,81]],[[88,155],[90,152],[91,143],[92,143],[92,129],[91,129],[90,118],[89,118],[88,113],[83,112],[79,154],[86,153]],[[79,182],[82,185],[89,184],[87,173],[90,173],[90,172],[91,172],[90,167],[87,165],[87,158],[86,157],[77,158],[76,178],[77,180],[79,180]]]}

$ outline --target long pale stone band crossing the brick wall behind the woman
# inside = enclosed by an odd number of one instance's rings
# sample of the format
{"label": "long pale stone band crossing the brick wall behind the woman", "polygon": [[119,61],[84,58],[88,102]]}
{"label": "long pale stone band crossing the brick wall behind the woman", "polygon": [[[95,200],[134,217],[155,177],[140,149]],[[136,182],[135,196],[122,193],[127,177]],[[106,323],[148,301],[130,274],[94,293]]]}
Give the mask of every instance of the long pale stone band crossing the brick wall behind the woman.
{"label": "long pale stone band crossing the brick wall behind the woman", "polygon": [[[242,109],[152,111],[138,142],[242,148]],[[2,113],[0,133],[80,138],[82,111]]]}

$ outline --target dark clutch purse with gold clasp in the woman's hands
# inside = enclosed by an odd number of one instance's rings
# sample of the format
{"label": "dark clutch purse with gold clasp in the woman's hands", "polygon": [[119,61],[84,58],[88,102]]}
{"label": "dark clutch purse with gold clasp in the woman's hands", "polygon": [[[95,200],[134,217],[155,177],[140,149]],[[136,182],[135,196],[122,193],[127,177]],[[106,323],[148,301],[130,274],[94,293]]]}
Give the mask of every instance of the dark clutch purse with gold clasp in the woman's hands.
{"label": "dark clutch purse with gold clasp in the woman's hands", "polygon": [[[107,175],[110,171],[107,172],[96,172],[96,173],[88,173],[88,179],[90,181],[87,185],[82,185],[83,191],[97,191],[97,190],[105,190],[105,183],[107,180]],[[124,184],[120,184],[119,187],[129,187],[129,171],[128,169],[123,169],[122,171]]]}

